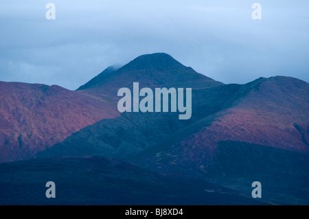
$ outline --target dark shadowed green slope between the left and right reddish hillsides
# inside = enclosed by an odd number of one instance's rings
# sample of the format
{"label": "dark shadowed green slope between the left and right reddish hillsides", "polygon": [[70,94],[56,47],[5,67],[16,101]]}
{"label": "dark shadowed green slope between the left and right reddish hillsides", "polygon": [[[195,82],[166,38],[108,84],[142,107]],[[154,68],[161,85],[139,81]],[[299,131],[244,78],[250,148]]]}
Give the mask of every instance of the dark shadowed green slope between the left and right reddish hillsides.
{"label": "dark shadowed green slope between the left and right reddish hillsides", "polygon": [[192,118],[179,120],[178,113],[122,113],[103,119],[74,133],[65,141],[40,152],[36,157],[104,156],[124,158],[150,148],[173,133],[229,106],[240,89],[236,84],[192,91]]}

